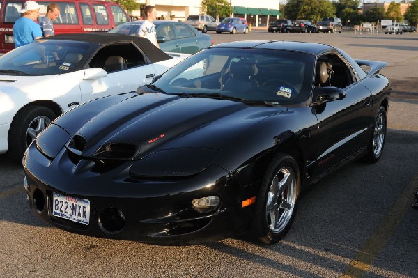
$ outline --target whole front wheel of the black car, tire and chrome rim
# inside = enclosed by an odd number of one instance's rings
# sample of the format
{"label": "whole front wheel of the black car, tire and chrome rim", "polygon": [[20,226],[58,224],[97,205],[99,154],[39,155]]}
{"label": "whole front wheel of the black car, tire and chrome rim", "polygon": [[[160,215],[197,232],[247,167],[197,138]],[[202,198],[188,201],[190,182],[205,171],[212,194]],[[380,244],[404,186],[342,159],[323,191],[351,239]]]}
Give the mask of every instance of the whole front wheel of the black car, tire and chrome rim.
{"label": "whole front wheel of the black car, tire and chrome rim", "polygon": [[291,228],[300,192],[300,171],[293,157],[279,153],[270,163],[256,199],[254,235],[265,244],[284,238]]}

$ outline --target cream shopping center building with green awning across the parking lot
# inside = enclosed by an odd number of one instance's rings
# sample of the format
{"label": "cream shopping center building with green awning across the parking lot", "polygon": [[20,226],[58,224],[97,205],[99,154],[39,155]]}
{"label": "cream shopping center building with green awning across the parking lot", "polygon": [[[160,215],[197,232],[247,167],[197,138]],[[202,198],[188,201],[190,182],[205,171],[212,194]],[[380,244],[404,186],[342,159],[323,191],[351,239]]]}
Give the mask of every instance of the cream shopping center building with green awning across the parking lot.
{"label": "cream shopping center building with green awning across the parking lot", "polygon": [[[283,1],[283,0],[281,0]],[[279,0],[260,1],[229,0],[232,6],[232,17],[244,17],[252,26],[268,26],[279,15]],[[141,10],[130,12],[132,17],[142,17],[144,6],[153,5],[157,8],[160,20],[185,21],[189,15],[204,13],[201,0],[137,0]]]}

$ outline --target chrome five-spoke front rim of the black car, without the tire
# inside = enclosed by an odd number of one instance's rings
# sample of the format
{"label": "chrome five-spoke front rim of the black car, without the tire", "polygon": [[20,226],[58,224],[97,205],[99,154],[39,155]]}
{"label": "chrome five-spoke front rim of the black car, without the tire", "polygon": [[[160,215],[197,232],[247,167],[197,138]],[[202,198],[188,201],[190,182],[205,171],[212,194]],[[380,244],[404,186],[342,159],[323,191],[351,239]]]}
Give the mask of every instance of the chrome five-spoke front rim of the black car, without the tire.
{"label": "chrome five-spoke front rim of the black car, without the tire", "polygon": [[267,196],[266,217],[270,230],[280,233],[291,221],[297,199],[296,176],[291,167],[281,168],[272,179]]}

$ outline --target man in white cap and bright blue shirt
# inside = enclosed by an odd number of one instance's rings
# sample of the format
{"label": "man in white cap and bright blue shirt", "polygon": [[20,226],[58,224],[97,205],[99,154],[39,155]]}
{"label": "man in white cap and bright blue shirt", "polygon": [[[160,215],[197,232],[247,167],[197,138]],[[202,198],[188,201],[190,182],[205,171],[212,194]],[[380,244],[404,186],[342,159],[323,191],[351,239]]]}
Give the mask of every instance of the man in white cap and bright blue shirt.
{"label": "man in white cap and bright blue shirt", "polygon": [[20,10],[23,16],[16,20],[13,25],[13,36],[15,37],[15,47],[27,45],[33,40],[42,38],[42,31],[36,22],[39,15],[40,6],[35,1],[26,1]]}

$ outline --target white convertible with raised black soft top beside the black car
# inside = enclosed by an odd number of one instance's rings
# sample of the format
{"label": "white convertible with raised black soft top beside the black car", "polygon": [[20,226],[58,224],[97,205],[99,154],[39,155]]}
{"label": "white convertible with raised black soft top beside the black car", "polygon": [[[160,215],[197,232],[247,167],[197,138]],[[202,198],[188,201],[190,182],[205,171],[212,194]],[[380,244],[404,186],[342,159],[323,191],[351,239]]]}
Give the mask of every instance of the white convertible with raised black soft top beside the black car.
{"label": "white convertible with raised black soft top beside the black car", "polygon": [[187,58],[144,38],[59,35],[0,57],[0,153],[19,162],[54,118],[82,102],[135,91]]}

